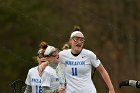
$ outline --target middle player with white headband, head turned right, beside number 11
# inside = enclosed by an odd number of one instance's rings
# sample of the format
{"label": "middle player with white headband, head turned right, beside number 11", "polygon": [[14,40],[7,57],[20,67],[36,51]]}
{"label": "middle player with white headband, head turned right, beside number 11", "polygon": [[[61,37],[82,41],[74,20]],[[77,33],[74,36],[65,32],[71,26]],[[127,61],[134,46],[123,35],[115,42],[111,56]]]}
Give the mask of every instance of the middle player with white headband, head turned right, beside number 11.
{"label": "middle player with white headband, head turned right, beside number 11", "polygon": [[48,66],[42,72],[42,93],[58,93],[59,78],[56,73],[59,56],[58,49],[48,46],[44,52]]}

